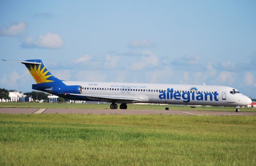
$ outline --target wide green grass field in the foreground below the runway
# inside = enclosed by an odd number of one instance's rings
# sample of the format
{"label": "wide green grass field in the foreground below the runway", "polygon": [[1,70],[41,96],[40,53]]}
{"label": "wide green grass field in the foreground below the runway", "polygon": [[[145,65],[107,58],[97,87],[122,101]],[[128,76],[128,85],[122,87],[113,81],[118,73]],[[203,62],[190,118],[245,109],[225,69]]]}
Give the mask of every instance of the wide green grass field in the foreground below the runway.
{"label": "wide green grass field in the foreground below the runway", "polygon": [[0,115],[0,165],[256,165],[256,116]]}

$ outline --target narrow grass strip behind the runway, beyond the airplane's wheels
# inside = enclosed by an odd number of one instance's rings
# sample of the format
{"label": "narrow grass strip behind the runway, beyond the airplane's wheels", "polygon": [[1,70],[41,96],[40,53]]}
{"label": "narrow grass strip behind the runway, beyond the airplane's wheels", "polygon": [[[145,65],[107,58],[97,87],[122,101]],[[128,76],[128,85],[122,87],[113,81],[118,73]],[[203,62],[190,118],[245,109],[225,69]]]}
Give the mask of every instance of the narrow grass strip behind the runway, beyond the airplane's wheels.
{"label": "narrow grass strip behind the runway, beyond the airplane's wheels", "polygon": [[[148,110],[164,110],[165,107],[169,107],[170,110],[184,110],[184,111],[235,111],[236,107],[196,107],[190,106],[176,106],[176,105],[133,105],[128,104],[127,109],[148,109]],[[18,107],[18,108],[79,108],[79,109],[110,109],[110,104],[70,104],[70,103],[0,103],[0,107]],[[254,111],[255,108],[242,108],[241,111]]]}

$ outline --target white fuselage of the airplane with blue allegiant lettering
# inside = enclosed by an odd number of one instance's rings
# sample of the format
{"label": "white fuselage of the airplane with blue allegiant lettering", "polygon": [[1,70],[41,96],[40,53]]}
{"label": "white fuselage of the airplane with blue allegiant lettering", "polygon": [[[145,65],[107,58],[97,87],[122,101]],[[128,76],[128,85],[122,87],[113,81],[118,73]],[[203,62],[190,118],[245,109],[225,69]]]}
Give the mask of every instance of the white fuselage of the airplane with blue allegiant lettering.
{"label": "white fuselage of the airplane with blue allegiant lettering", "polygon": [[[63,81],[63,83],[82,86],[81,94],[84,95],[138,97],[141,100],[140,102],[116,100],[116,103],[245,106],[252,102],[238,90],[226,86],[81,81]],[[101,100],[94,99],[94,101]]]}

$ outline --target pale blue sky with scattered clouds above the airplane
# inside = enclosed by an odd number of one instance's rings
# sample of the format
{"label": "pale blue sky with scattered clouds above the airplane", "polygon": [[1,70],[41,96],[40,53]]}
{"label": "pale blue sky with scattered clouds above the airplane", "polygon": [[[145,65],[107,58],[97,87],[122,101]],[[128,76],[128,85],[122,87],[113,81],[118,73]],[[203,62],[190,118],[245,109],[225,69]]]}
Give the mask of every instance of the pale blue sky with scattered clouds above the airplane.
{"label": "pale blue sky with scattered clouds above the airplane", "polygon": [[[256,98],[256,1],[0,1],[1,59],[77,81],[226,85]],[[0,88],[32,91],[0,61]]]}

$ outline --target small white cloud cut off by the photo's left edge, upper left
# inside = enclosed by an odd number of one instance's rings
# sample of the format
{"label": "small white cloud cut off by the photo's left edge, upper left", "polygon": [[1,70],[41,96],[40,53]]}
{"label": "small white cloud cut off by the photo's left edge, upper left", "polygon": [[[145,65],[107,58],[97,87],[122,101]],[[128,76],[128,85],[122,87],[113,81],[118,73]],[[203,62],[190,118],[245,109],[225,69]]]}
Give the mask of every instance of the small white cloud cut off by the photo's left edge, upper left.
{"label": "small white cloud cut off by the photo's left edge, upper left", "polygon": [[24,33],[25,28],[26,24],[24,22],[11,24],[9,27],[3,25],[0,28],[0,36],[20,36]]}

